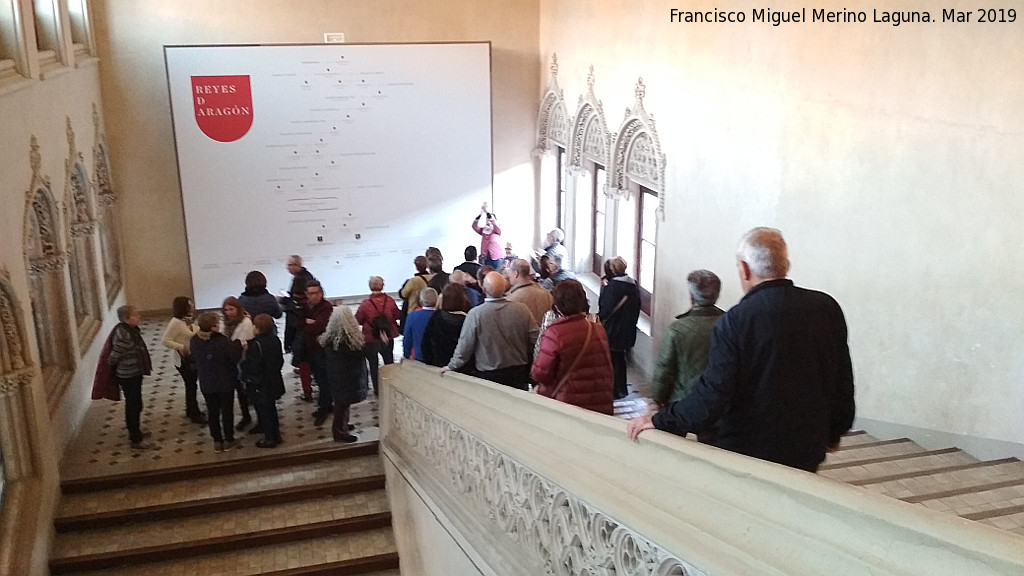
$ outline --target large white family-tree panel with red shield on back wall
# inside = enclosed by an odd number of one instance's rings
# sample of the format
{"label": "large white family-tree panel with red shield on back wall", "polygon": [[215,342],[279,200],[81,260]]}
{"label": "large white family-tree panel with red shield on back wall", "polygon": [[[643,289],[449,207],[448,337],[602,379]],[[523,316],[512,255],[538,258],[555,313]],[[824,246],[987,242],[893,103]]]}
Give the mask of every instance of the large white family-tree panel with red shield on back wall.
{"label": "large white family-tree panel with red shield on back wall", "polygon": [[329,296],[462,261],[492,200],[490,45],[166,46],[197,307],[289,254]]}

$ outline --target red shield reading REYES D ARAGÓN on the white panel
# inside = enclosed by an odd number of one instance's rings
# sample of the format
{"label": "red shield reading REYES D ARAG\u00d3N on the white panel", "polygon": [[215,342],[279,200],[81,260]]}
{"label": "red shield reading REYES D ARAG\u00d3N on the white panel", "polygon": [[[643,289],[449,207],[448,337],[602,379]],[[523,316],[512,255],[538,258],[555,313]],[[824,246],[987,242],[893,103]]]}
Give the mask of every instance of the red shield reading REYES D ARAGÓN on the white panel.
{"label": "red shield reading REYES D ARAG\u00d3N on the white panel", "polygon": [[253,125],[248,76],[193,76],[193,105],[200,130],[218,142],[233,142]]}

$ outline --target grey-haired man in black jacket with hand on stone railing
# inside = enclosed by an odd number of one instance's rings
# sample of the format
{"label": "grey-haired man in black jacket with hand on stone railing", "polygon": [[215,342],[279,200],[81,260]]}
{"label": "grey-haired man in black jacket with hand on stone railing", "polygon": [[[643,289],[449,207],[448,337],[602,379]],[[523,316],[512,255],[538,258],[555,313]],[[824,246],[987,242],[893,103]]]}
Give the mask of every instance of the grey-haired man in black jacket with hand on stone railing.
{"label": "grey-haired man in black jacket with hand on stone railing", "polygon": [[693,392],[630,422],[685,435],[719,420],[715,445],[816,471],[853,424],[846,320],[831,296],[786,280],[782,234],[758,228],[736,253],[745,295],[715,325],[711,360]]}

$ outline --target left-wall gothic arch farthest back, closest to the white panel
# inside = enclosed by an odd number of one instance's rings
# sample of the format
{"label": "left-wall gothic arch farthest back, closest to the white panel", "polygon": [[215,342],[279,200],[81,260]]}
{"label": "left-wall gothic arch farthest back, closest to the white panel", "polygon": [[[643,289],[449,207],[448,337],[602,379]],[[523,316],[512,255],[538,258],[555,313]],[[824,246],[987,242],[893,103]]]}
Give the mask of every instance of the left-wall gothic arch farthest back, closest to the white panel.
{"label": "left-wall gothic arch farthest back, closest to the white panel", "polygon": [[95,104],[92,105],[92,123],[96,128],[96,143],[93,147],[96,180],[93,190],[96,193],[99,246],[103,258],[103,285],[106,288],[106,305],[111,306],[121,292],[121,247],[118,244],[117,219],[114,215],[117,197],[111,183],[106,137],[101,130],[99,112]]}

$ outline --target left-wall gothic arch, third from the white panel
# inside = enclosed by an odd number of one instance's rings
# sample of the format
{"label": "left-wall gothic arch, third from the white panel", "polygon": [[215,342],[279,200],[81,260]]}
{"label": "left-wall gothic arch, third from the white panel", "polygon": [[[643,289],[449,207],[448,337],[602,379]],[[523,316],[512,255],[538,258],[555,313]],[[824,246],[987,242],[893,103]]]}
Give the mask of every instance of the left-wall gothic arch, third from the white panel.
{"label": "left-wall gothic arch, third from the white panel", "polygon": [[40,174],[42,161],[35,136],[31,156],[33,177],[25,211],[25,260],[43,386],[52,409],[75,371],[65,291],[68,255],[60,245],[59,212],[49,178]]}

